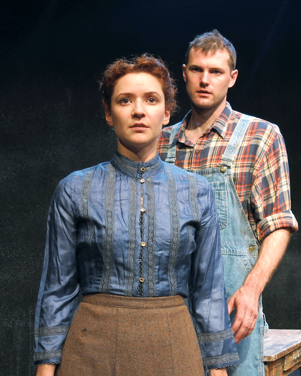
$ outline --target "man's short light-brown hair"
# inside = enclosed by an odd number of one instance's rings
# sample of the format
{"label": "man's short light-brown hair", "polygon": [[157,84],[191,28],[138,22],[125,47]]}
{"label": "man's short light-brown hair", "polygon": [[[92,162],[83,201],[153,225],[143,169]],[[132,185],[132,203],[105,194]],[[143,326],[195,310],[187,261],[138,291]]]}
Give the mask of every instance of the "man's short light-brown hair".
{"label": "man's short light-brown hair", "polygon": [[235,69],[236,66],[236,52],[230,41],[223,37],[216,29],[211,32],[197,35],[195,39],[190,42],[187,53],[186,53],[186,64],[189,59],[189,52],[194,48],[195,50],[201,50],[208,54],[208,52],[217,52],[217,51],[228,51],[229,53],[229,66],[231,72]]}

